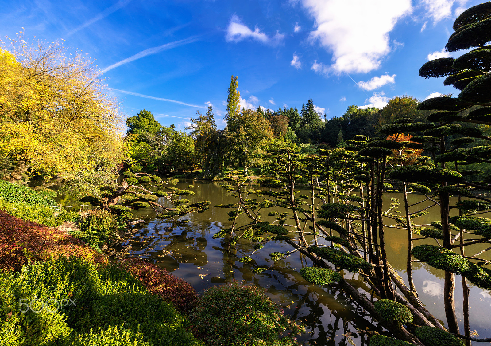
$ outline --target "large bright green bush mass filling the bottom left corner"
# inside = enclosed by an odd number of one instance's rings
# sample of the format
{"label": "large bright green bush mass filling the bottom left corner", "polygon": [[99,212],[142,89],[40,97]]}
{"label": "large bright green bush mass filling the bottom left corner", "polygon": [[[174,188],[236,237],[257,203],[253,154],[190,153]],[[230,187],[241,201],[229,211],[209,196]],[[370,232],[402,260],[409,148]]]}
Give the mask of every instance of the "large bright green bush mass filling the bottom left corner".
{"label": "large bright green bush mass filling the bottom left corner", "polygon": [[[58,304],[63,299],[74,303]],[[11,346],[199,345],[185,329],[186,318],[129,272],[81,259],[37,262],[20,274],[0,274],[0,316],[0,340]]]}

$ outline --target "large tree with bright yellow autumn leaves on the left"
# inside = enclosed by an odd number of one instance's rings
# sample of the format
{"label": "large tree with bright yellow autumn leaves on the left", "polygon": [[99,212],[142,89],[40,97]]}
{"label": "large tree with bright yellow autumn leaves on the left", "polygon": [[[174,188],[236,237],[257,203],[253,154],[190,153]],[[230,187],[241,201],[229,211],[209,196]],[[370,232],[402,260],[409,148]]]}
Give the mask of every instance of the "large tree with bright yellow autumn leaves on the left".
{"label": "large tree with bright yellow autumn leaves on the left", "polygon": [[124,158],[118,104],[91,60],[62,42],[1,42],[0,176],[77,176]]}

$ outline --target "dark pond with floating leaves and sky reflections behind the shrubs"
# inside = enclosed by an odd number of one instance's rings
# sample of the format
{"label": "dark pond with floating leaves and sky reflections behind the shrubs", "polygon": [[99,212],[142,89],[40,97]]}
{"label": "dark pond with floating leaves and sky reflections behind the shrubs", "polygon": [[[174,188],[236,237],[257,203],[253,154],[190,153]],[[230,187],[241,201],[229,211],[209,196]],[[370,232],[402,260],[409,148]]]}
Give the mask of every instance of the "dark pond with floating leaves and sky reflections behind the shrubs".
{"label": "dark pond with floating leaves and sky reflections behind the shrubs", "polygon": [[[234,203],[235,198],[219,186],[222,182],[180,180],[176,186],[178,188],[194,185],[195,195],[186,196],[191,203],[210,201],[210,209],[200,214],[188,214],[186,218],[190,221],[185,226],[174,226],[155,218],[150,207],[139,209],[134,212],[134,216],[143,218],[145,223],[131,230],[131,238],[122,244],[113,245],[112,258],[133,256],[147,259],[186,280],[198,292],[233,280],[265,288],[272,300],[284,308],[286,315],[305,323],[308,334],[299,340],[309,341],[312,345],[364,345],[367,340],[364,331],[382,332],[379,327],[374,327],[376,322],[355,301],[345,296],[338,286],[320,287],[306,282],[299,270],[312,266],[312,262],[298,252],[278,261],[268,271],[256,273],[252,270],[257,266],[273,264],[269,258],[272,252],[291,251],[292,248],[286,243],[269,241],[262,250],[252,255],[251,262],[239,262],[240,257],[252,253],[254,243],[240,239],[231,252],[227,252],[223,239],[213,239],[216,232],[231,227],[226,214],[228,210],[213,208],[213,205]],[[301,193],[307,195],[308,191],[300,190]],[[390,206],[391,198],[399,198],[402,202],[402,195],[387,194],[384,196],[385,209]],[[410,204],[423,199],[422,195],[409,195]],[[162,198],[159,202],[165,203]],[[168,203],[166,205],[171,206]],[[421,202],[420,205],[423,208],[430,205],[430,202]],[[399,210],[401,214],[404,213],[403,207]],[[427,211],[429,214],[413,219],[416,224],[429,224],[440,219],[438,207]],[[453,209],[452,216],[455,213],[456,209]],[[244,215],[242,219],[241,216],[238,218],[239,224],[241,220],[249,222]],[[274,218],[263,216],[263,221],[266,220],[272,222]],[[392,223],[386,220],[386,224]],[[407,231],[386,229],[385,236],[389,262],[406,280]],[[417,240],[414,246],[424,242],[435,244],[434,240]],[[486,247],[486,244],[471,245],[468,251],[474,254]],[[486,252],[480,257],[491,259],[491,254]],[[421,301],[436,318],[444,321],[443,271],[419,262],[414,263],[413,268],[413,280]],[[357,274],[346,272],[345,279],[357,287],[366,288]],[[456,276],[456,311],[461,328],[462,296],[461,277]],[[490,291],[471,285],[469,306],[471,331],[476,330],[481,338],[491,337]]]}

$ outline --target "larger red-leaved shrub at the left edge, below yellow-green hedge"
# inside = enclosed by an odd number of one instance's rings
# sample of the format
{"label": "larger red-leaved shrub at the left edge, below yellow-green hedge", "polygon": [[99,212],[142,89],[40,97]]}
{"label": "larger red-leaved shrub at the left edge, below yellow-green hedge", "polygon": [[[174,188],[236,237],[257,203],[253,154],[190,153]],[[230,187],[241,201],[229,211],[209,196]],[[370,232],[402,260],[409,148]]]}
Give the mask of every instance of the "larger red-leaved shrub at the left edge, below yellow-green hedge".
{"label": "larger red-leaved shrub at the left edge, below yellow-green hedge", "polygon": [[[80,239],[32,221],[22,220],[0,210],[0,271],[19,271],[31,262],[60,255],[76,256],[93,263],[107,259]],[[28,258],[28,259],[27,259]]]}

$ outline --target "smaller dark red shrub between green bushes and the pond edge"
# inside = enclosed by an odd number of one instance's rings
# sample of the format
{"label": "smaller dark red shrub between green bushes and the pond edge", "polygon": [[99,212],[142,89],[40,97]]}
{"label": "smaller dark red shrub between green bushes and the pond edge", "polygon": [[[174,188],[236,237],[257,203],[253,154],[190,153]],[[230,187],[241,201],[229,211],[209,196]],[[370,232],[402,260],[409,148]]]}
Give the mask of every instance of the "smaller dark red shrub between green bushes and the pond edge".
{"label": "smaller dark red shrub between green bushes and the pond edge", "polygon": [[172,303],[177,311],[186,313],[197,306],[198,294],[194,288],[183,279],[167,273],[164,268],[135,258],[121,259],[119,266],[132,273],[150,293],[158,294],[164,301]]}

